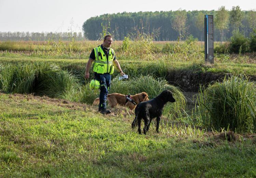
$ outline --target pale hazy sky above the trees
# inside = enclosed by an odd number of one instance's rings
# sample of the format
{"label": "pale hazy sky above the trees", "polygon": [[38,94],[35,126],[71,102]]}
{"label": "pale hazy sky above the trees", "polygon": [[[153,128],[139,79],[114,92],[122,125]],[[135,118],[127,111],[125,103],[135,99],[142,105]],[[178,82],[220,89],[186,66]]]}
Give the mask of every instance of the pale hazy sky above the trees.
{"label": "pale hazy sky above the trees", "polygon": [[[207,3],[205,3],[207,2]],[[213,3],[214,2],[214,3]],[[0,0],[0,32],[82,32],[83,23],[102,14],[178,9],[255,10],[256,0]]]}

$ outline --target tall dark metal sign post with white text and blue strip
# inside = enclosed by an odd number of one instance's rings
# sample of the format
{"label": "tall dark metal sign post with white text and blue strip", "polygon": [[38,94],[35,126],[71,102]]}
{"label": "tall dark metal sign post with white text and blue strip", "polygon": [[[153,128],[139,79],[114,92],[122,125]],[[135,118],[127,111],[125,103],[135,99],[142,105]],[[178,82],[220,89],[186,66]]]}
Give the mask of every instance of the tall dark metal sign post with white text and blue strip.
{"label": "tall dark metal sign post with white text and blue strip", "polygon": [[213,15],[204,15],[204,60],[213,64]]}

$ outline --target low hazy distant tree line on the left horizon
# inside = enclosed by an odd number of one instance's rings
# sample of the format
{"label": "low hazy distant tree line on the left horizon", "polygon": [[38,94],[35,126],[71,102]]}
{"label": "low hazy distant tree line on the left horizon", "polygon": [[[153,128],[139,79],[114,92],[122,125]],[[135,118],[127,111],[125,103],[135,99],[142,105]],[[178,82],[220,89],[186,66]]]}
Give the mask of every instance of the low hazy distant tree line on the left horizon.
{"label": "low hazy distant tree line on the left horizon", "polygon": [[82,32],[0,32],[1,41],[84,40]]}

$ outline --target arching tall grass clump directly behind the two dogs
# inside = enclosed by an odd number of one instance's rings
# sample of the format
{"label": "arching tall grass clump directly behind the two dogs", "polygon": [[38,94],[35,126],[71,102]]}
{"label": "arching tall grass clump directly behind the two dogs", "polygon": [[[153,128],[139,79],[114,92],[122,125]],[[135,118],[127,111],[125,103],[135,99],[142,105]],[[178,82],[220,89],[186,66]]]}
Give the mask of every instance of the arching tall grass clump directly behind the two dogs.
{"label": "arching tall grass clump directly behind the two dogs", "polygon": [[170,90],[175,98],[175,103],[167,103],[163,109],[163,115],[171,118],[179,118],[186,108],[186,99],[179,88],[169,85],[164,78],[156,78],[153,75],[132,77],[128,80],[112,81],[111,92],[122,94],[137,94],[146,92],[150,99],[159,95],[163,90]]}

